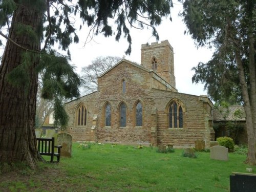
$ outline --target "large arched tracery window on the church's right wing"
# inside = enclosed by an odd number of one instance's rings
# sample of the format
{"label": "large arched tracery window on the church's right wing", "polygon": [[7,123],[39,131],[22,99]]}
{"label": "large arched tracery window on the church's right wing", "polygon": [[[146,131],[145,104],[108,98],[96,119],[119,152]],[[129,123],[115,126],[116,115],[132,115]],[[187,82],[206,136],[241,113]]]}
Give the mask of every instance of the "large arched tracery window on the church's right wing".
{"label": "large arched tracery window on the church's right wing", "polygon": [[177,101],[172,102],[169,106],[169,127],[183,127],[183,110]]}

